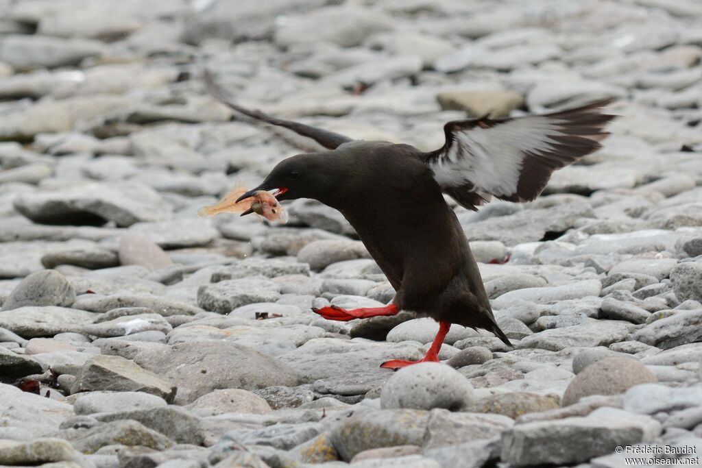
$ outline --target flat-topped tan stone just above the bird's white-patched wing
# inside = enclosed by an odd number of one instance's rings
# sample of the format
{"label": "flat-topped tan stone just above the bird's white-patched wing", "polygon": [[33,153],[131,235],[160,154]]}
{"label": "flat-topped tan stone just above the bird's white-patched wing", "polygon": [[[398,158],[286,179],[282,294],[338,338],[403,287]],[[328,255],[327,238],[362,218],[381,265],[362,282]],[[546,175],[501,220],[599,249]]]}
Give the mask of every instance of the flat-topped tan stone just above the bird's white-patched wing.
{"label": "flat-topped tan stone just above the bird's white-patched wing", "polygon": [[445,91],[437,100],[444,110],[465,110],[474,118],[501,119],[524,105],[522,95],[514,91]]}

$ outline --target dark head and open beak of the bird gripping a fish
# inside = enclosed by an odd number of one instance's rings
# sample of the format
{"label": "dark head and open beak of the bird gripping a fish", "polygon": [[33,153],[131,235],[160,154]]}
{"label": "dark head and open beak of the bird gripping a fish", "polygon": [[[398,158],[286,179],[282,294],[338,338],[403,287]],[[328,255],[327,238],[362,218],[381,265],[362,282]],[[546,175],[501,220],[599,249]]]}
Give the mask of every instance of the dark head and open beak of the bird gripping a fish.
{"label": "dark head and open beak of the bird gripping a fish", "polygon": [[341,175],[333,156],[327,153],[298,154],[280,161],[258,187],[241,195],[237,203],[259,190],[273,190],[279,201],[316,199],[329,204]]}

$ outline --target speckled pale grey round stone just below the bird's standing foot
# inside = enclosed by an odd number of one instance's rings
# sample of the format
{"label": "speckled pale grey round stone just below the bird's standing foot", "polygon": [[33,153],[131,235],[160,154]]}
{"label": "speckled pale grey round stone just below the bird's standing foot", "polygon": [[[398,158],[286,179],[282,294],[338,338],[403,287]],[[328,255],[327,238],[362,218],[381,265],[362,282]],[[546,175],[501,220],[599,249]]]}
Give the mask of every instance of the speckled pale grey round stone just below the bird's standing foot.
{"label": "speckled pale grey round stone just below the bird's standing foot", "polygon": [[468,403],[472,390],[470,382],[457,370],[441,363],[418,363],[398,370],[385,382],[380,407],[456,411]]}

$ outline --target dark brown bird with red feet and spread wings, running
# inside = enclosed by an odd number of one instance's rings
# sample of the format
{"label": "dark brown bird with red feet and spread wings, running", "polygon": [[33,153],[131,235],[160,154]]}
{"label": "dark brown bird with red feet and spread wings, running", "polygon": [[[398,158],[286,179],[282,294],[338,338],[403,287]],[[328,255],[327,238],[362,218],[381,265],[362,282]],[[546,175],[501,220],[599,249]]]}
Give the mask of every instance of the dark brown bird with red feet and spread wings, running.
{"label": "dark brown bird with red feet and spread wings, running", "polygon": [[553,171],[600,148],[608,135],[603,128],[614,117],[602,113],[609,101],[600,101],[541,116],[451,121],[444,126],[444,146],[422,152],[275,119],[230,102],[208,72],[204,80],[213,97],[237,112],[289,128],[329,149],[284,159],[239,200],[258,190],[275,190],[279,200],[316,199],[344,215],[396,295],[385,307],[331,306],[314,312],[348,321],[409,310],[439,322],[426,356],[381,365],[392,369],[439,361],[451,323],[488,330],[511,346],[495,322],[468,239],[443,194],[470,210],[491,196],[534,200]]}

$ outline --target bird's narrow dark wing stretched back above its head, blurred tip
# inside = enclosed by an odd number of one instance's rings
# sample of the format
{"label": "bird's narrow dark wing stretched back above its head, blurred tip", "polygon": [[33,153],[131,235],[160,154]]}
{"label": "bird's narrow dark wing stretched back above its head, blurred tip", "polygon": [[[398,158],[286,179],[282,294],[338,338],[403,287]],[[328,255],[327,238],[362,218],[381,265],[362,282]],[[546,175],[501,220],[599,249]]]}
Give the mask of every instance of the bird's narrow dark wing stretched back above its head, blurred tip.
{"label": "bird's narrow dark wing stretched back above its head, blurred tip", "polygon": [[271,125],[288,128],[289,130],[297,133],[298,135],[302,135],[303,137],[307,138],[312,138],[312,140],[316,141],[317,143],[319,143],[319,145],[322,145],[327,149],[336,149],[336,147],[338,147],[342,143],[352,141],[351,138],[345,137],[344,135],[339,135],[338,133],[322,130],[322,128],[316,128],[309,125],[305,125],[304,123],[293,122],[289,120],[276,119],[275,117],[270,116],[268,114],[264,114],[259,110],[251,110],[246,109],[246,107],[241,107],[240,105],[235,104],[230,100],[230,97],[229,95],[227,95],[227,92],[224,91],[223,88],[217,83],[215,83],[214,77],[212,76],[211,72],[207,69],[203,73],[203,80],[205,82],[205,88],[207,92],[210,93],[213,98],[222,102],[228,107],[231,107],[235,111],[240,112],[245,116],[251,117],[251,119],[256,119],[265,123],[270,123]]}

